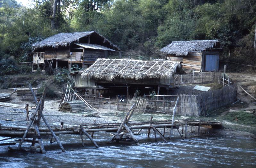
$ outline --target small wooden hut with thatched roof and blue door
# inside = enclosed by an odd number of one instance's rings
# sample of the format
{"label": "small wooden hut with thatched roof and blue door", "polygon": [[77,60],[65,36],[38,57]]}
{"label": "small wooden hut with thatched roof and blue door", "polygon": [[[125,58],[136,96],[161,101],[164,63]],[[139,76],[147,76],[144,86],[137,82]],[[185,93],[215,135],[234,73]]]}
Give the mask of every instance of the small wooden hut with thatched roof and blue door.
{"label": "small wooden hut with thatched roof and blue door", "polygon": [[160,52],[170,61],[182,62],[184,69],[196,71],[219,70],[219,40],[173,41]]}

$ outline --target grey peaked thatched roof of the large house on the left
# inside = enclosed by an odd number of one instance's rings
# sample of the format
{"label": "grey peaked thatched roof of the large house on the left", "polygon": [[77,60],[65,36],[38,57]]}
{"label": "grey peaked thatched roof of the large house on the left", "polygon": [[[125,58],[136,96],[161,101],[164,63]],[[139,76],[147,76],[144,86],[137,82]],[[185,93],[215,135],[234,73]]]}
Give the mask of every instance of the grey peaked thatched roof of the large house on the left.
{"label": "grey peaked thatched roof of the large house on the left", "polygon": [[58,48],[59,46],[66,47],[72,42],[79,42],[80,38],[89,36],[92,33],[96,33],[98,36],[100,36],[104,39],[104,42],[109,42],[109,44],[111,46],[114,46],[117,50],[120,50],[119,47],[113,45],[109,40],[107,40],[105,37],[103,37],[102,35],[100,35],[99,33],[95,32],[95,31],[55,34],[51,37],[46,38],[45,40],[39,41],[35,44],[32,44],[32,47],[34,49],[43,48],[43,47],[53,47],[53,48]]}

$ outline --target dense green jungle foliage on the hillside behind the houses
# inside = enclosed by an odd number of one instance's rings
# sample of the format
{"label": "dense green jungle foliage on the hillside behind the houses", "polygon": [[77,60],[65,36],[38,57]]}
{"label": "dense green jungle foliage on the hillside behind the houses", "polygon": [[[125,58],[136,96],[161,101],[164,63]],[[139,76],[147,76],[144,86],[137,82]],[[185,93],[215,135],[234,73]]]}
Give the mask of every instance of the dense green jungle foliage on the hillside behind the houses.
{"label": "dense green jungle foliage on the hillside behind the houses", "polygon": [[34,42],[92,30],[143,59],[174,40],[219,39],[221,60],[253,65],[255,21],[255,0],[0,0],[0,75],[29,71],[19,62]]}

